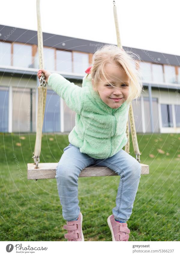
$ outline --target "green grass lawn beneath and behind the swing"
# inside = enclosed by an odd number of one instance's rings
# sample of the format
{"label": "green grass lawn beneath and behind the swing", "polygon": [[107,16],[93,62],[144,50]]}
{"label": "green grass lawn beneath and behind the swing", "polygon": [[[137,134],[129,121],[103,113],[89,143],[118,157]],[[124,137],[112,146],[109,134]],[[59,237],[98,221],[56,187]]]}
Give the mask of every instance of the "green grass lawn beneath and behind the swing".
{"label": "green grass lawn beneath and behind the swing", "polygon": [[[129,241],[179,241],[180,134],[137,134],[142,175],[128,220]],[[56,179],[27,180],[35,134],[0,134],[1,241],[67,241]],[[58,162],[68,136],[43,134],[41,162]],[[134,155],[132,143],[130,154]],[[115,207],[119,177],[79,178],[85,241],[112,241],[107,217]],[[103,188],[99,190],[99,188]]]}

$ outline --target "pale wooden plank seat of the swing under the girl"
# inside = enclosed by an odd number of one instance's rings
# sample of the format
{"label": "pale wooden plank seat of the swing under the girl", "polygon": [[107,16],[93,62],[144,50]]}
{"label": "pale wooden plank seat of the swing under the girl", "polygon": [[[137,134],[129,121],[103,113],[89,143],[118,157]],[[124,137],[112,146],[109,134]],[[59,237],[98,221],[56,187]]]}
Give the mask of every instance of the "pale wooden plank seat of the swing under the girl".
{"label": "pale wooden plank seat of the swing under the girl", "polygon": [[[54,179],[58,163],[28,163],[28,179]],[[149,174],[149,165],[141,163],[141,174]],[[116,172],[108,167],[90,165],[82,170],[79,177],[115,176]]]}

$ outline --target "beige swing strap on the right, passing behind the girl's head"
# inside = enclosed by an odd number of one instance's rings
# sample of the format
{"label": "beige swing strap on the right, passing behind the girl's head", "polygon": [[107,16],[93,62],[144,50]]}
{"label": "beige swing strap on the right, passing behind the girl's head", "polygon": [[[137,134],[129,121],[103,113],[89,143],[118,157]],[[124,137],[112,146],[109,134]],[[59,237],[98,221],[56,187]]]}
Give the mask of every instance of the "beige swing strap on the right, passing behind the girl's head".
{"label": "beige swing strap on the right, passing behind the girl's head", "polygon": [[[121,38],[120,38],[120,32],[119,32],[119,23],[118,23],[118,15],[117,15],[117,8],[115,5],[115,1],[113,1],[113,13],[114,13],[114,21],[115,21],[115,27],[116,27],[116,37],[117,37],[117,46],[119,48],[122,48],[122,43],[121,43]],[[138,142],[137,142],[137,135],[136,135],[136,128],[135,128],[135,123],[134,123],[134,115],[133,115],[133,107],[132,103],[130,104],[129,108],[129,120],[130,120],[130,127],[131,127],[131,136],[132,136],[132,141],[133,141],[133,148],[134,148],[134,153],[136,154],[136,159],[140,163],[140,150],[138,147]],[[129,151],[129,122],[127,122],[126,125],[126,135],[128,138],[128,142],[125,145],[125,151],[127,153],[130,153]]]}

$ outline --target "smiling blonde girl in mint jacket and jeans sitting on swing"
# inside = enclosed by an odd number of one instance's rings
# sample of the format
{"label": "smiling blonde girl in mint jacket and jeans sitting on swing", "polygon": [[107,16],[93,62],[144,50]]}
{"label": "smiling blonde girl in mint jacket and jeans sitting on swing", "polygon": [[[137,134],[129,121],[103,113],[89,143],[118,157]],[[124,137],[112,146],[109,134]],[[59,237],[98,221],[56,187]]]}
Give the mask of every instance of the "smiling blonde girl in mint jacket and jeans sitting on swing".
{"label": "smiling blonde girl in mint jacket and jeans sitting on swing", "polygon": [[140,163],[126,153],[126,124],[133,99],[142,91],[136,60],[114,45],[105,45],[93,55],[92,66],[85,72],[82,87],[57,73],[42,72],[46,83],[76,112],[70,144],[56,168],[62,216],[67,220],[67,241],[84,241],[82,213],[78,206],[78,177],[89,165],[109,167],[120,177],[116,207],[107,223],[113,241],[128,241],[127,221],[131,216],[140,177]]}

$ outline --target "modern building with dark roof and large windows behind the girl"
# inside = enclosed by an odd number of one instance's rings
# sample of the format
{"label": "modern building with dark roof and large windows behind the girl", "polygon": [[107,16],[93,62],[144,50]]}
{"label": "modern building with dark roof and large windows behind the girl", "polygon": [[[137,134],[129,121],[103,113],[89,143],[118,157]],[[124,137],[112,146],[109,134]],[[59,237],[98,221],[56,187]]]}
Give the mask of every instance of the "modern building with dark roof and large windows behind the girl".
{"label": "modern building with dark roof and large windows behind the girl", "polygon": [[[81,86],[92,55],[105,43],[43,33],[44,64]],[[139,55],[144,92],[133,101],[139,133],[180,132],[180,56],[123,47]],[[38,109],[37,31],[0,25],[0,131],[35,132]],[[70,132],[75,112],[47,87],[43,132]]]}

